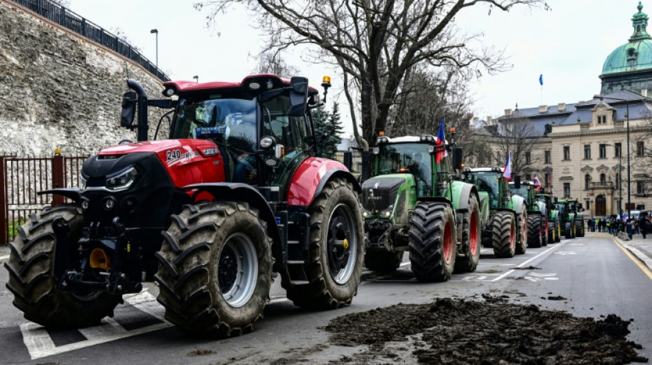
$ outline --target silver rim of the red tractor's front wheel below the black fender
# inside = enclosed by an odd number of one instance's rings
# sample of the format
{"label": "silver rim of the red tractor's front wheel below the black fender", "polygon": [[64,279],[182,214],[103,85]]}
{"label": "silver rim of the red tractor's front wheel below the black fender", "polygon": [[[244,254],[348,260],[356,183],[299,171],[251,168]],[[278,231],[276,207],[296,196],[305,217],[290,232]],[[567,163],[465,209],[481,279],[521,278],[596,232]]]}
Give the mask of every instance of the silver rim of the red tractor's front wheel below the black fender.
{"label": "silver rim of the red tractor's front wheel below the black fender", "polygon": [[222,297],[231,307],[245,305],[256,288],[258,257],[251,238],[234,234],[220,253],[218,283]]}

